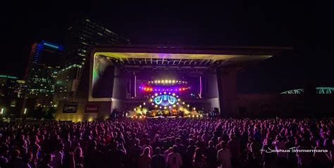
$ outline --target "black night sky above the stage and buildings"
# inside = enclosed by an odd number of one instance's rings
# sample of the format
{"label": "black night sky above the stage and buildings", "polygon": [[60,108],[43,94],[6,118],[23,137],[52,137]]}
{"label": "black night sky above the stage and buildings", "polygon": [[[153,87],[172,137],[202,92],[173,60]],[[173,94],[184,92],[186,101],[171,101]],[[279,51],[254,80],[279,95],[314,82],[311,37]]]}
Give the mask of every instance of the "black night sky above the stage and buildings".
{"label": "black night sky above the stage and buildings", "polygon": [[294,47],[293,51],[240,72],[240,92],[278,93],[306,84],[334,86],[333,1],[211,5],[17,3],[3,6],[0,12],[4,61],[0,74],[23,77],[34,42],[45,39],[62,45],[70,24],[89,17],[125,35],[132,44]]}

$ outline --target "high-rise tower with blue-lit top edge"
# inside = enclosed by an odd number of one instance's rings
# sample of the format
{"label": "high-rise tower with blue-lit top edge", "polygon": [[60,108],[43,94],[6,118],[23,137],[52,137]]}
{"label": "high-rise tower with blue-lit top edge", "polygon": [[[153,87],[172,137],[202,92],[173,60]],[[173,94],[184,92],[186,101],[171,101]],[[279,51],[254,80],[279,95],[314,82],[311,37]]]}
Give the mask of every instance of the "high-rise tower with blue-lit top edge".
{"label": "high-rise tower with blue-lit top edge", "polygon": [[49,107],[54,96],[56,74],[64,61],[63,46],[41,41],[32,44],[25,70],[27,98],[36,98],[36,106]]}

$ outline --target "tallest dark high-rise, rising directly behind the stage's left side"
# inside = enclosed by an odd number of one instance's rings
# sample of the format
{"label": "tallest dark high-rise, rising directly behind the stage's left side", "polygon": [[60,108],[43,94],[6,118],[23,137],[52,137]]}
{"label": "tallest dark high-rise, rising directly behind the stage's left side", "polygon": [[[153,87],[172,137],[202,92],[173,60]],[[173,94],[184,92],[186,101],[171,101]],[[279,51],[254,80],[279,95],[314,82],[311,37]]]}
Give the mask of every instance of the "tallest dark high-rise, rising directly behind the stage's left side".
{"label": "tallest dark high-rise, rising directly behind the stage's left side", "polygon": [[130,44],[130,40],[87,18],[68,28],[66,63],[57,74],[55,102],[73,100],[90,51],[103,44]]}

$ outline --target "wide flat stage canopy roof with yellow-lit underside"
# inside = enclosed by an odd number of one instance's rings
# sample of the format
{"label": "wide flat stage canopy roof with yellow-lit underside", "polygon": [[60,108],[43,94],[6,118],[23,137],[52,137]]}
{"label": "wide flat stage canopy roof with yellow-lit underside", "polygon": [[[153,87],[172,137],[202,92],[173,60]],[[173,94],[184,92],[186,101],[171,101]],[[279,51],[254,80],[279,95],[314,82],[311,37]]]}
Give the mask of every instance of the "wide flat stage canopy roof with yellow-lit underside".
{"label": "wide flat stage canopy roof with yellow-lit underside", "polygon": [[106,56],[127,70],[206,70],[209,67],[249,65],[290,47],[264,46],[99,46],[94,56]]}

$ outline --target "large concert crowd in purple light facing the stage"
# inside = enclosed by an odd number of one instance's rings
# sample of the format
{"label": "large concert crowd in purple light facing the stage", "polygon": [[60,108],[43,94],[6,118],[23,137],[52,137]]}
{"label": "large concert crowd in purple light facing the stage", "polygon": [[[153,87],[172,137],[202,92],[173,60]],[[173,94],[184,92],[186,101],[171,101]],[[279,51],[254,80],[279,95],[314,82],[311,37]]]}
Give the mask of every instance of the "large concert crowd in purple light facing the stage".
{"label": "large concert crowd in purple light facing the stage", "polygon": [[333,167],[333,122],[175,118],[0,123],[0,167]]}

